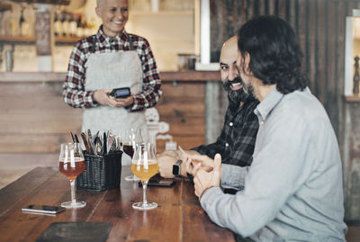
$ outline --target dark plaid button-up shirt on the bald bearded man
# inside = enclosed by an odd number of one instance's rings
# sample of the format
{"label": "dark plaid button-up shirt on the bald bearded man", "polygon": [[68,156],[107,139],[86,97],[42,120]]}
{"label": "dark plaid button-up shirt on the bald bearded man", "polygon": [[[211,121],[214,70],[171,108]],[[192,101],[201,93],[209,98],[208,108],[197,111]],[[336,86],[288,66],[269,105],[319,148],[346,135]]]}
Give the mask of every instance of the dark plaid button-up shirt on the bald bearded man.
{"label": "dark plaid button-up shirt on the bald bearded man", "polygon": [[223,164],[250,166],[259,127],[254,113],[257,104],[256,99],[249,97],[242,106],[230,108],[229,105],[220,137],[215,143],[193,150],[211,158],[220,153]]}

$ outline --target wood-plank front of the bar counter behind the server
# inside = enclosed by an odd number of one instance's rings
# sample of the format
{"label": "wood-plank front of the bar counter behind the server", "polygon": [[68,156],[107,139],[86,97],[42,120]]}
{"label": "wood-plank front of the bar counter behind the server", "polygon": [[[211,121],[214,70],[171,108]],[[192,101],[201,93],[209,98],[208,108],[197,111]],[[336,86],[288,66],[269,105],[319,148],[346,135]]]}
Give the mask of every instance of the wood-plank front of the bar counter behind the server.
{"label": "wood-plank front of the bar counter behind the server", "polygon": [[[164,82],[160,121],[183,148],[204,142],[206,82]],[[0,82],[0,153],[54,153],[81,130],[82,110],[62,100],[62,82]],[[159,140],[158,150],[165,148]]]}

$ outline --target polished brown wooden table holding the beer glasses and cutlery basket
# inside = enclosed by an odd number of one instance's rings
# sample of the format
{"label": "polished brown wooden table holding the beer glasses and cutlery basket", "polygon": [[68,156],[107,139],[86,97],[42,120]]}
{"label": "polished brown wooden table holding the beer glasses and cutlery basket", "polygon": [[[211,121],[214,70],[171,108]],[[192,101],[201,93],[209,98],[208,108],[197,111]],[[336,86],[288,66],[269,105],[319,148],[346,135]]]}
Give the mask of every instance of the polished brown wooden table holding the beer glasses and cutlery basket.
{"label": "polished brown wooden table holding the beer glasses and cutlery basket", "polygon": [[[122,166],[123,178],[130,166]],[[151,211],[133,210],[142,199],[136,182],[121,179],[121,189],[100,193],[77,190],[83,209],[66,210],[56,216],[23,213],[30,204],[59,205],[70,200],[70,184],[58,167],[37,167],[0,190],[0,241],[35,241],[52,222],[112,222],[107,241],[235,241],[228,229],[211,222],[193,193],[193,184],[176,180],[171,188],[149,187]]]}

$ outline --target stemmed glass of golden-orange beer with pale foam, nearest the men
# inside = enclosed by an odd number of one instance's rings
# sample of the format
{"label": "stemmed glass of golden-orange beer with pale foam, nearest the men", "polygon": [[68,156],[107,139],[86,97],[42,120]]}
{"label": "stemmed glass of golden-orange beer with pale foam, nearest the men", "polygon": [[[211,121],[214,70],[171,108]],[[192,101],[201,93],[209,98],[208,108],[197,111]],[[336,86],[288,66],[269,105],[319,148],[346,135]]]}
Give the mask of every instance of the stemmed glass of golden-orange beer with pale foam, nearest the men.
{"label": "stemmed glass of golden-orange beer with pale foam, nearest the men", "polygon": [[153,144],[137,144],[134,156],[132,157],[131,172],[140,178],[143,188],[142,202],[132,204],[132,208],[136,210],[144,211],[157,208],[157,203],[148,202],[146,197],[148,179],[158,172],[157,158],[155,157],[154,150]]}

